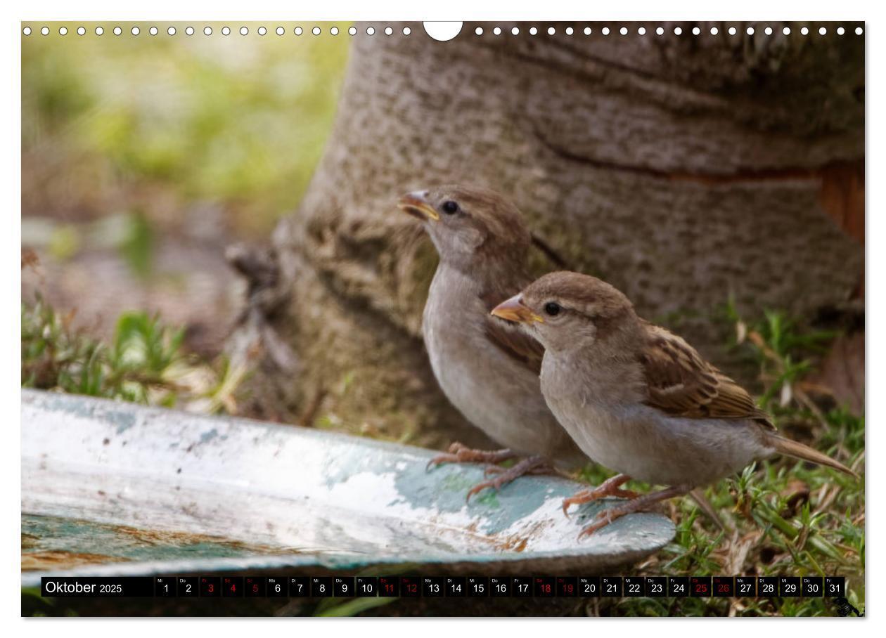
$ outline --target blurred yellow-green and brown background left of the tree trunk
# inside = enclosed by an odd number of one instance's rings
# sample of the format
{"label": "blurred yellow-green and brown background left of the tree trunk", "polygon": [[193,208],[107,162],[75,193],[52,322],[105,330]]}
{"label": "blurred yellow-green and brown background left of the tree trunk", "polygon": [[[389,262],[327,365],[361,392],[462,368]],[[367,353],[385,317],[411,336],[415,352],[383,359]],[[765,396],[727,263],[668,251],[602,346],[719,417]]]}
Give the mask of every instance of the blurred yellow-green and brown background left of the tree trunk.
{"label": "blurred yellow-green and brown background left of the tree trunk", "polygon": [[217,351],[241,293],[225,246],[267,241],[296,208],[335,117],[352,36],[318,24],[25,23],[22,248],[39,265],[23,298],[41,290],[98,336],[159,312]]}

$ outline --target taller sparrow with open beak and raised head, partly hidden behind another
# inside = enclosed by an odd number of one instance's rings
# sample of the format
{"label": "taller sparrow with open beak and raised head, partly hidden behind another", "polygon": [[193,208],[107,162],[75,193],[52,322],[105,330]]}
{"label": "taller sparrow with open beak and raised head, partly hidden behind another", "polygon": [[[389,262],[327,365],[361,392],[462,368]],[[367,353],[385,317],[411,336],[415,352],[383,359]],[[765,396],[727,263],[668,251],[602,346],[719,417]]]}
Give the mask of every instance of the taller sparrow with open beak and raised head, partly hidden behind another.
{"label": "taller sparrow with open beak and raised head, partly hidden behind another", "polygon": [[487,475],[497,476],[471,488],[470,500],[525,473],[587,463],[541,396],[541,344],[490,314],[532,281],[525,271],[532,234],[520,212],[494,191],[460,186],[408,193],[398,207],[421,220],[439,253],[422,319],[434,376],[465,419],[504,446],[470,450],[455,442],[429,467],[525,457],[507,470],[490,465]]}

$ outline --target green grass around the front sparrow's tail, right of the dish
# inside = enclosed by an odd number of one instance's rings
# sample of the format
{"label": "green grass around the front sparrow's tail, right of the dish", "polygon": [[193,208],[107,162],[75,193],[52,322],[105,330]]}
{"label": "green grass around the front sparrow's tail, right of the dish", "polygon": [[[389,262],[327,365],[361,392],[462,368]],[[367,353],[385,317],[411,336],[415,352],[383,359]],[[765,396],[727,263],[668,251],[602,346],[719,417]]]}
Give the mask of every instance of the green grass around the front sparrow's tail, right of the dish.
{"label": "green grass around the front sparrow's tail, right of the dish", "polygon": [[[781,312],[766,312],[756,324],[733,308],[731,347],[758,365],[763,393],[758,404],[781,430],[864,473],[865,419],[812,396],[805,379],[836,334],[807,330]],[[581,478],[609,478],[588,466]],[[633,481],[641,491],[650,486]],[[677,534],[657,556],[631,570],[640,575],[845,576],[847,599],[865,607],[864,480],[775,457],[705,490],[727,527],[721,531],[689,497],[672,501]],[[823,598],[623,598],[608,612],[619,616],[834,616]]]}

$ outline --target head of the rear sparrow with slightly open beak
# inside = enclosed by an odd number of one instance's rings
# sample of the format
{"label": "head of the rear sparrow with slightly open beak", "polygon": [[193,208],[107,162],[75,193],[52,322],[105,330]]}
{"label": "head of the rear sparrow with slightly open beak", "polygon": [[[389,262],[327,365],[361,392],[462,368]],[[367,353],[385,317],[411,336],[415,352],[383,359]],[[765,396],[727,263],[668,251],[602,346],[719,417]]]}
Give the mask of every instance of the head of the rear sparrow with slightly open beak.
{"label": "head of the rear sparrow with slightly open beak", "polygon": [[522,265],[529,250],[517,207],[492,190],[440,186],[408,193],[397,205],[422,220],[441,261],[474,266],[504,258]]}

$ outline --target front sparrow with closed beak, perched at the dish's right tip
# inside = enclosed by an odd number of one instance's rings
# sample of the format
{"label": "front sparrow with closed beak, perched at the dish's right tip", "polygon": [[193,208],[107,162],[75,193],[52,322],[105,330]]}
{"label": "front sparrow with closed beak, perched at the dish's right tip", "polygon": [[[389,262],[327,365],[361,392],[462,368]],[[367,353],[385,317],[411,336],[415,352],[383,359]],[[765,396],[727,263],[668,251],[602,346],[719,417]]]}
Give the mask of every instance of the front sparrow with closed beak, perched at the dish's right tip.
{"label": "front sparrow with closed beak, perched at the dish's right tip", "polygon": [[[604,496],[629,499],[603,510],[579,537],[776,454],[858,478],[777,434],[747,391],[679,336],[638,317],[627,297],[604,281],[549,273],[492,314],[541,342],[548,407],[588,457],[618,472],[564,499],[563,512]],[[631,479],[667,487],[639,496],[621,488]]]}

